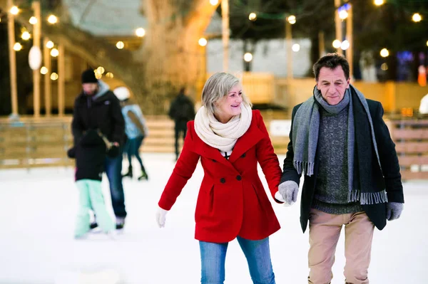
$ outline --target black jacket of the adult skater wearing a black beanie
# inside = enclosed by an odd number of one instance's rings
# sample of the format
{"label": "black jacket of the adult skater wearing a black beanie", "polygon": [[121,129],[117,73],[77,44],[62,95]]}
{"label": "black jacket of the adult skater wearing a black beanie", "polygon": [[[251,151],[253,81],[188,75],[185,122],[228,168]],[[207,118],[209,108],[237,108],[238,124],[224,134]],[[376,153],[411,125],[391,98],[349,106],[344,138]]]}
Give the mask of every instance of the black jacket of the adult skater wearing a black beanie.
{"label": "black jacket of the adult skater wearing a black beanie", "polygon": [[77,145],[83,132],[99,129],[111,142],[123,144],[125,122],[121,105],[116,95],[108,90],[108,85],[99,81],[96,95],[88,96],[83,92],[74,101],[73,122],[71,123],[74,144]]}

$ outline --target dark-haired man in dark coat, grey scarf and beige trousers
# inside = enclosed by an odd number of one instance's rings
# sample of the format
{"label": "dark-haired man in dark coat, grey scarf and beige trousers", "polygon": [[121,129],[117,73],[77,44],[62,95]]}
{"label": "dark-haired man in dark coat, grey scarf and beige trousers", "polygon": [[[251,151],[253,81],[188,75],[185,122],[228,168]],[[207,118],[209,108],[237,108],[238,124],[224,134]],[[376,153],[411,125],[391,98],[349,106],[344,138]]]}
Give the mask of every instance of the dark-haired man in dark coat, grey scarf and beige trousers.
{"label": "dark-haired man in dark coat, grey scarf and beige trousers", "polygon": [[350,85],[345,57],[329,53],[313,67],[314,95],[292,110],[292,129],[279,186],[285,202],[297,199],[305,176],[300,223],[309,221],[308,283],[332,280],[345,226],[345,282],[369,283],[374,226],[398,219],[404,195],[395,144],[380,102]]}

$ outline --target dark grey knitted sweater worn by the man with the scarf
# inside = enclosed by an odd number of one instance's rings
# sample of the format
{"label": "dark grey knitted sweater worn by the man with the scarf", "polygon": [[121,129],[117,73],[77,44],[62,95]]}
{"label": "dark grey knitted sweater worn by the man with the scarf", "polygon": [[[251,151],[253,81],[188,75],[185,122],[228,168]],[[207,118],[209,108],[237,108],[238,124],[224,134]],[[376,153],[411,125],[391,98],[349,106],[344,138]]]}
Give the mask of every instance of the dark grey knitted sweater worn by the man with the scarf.
{"label": "dark grey knitted sweater worn by the man with the scarf", "polygon": [[329,214],[362,211],[359,202],[348,203],[347,172],[348,107],[337,115],[320,107],[317,156],[320,159],[312,208]]}

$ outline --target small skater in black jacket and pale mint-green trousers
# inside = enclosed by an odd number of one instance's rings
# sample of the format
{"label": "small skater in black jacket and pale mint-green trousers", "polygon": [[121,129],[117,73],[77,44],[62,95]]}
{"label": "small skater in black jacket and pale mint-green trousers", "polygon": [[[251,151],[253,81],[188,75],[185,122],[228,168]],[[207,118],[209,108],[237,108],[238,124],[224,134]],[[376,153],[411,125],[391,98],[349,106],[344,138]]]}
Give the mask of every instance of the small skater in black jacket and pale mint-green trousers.
{"label": "small skater in black jacket and pale mint-green trousers", "polygon": [[[74,231],[75,238],[84,238],[90,231],[89,211],[93,210],[104,233],[112,233],[115,224],[108,214],[101,189],[106,152],[111,143],[101,138],[101,132],[88,130],[81,140],[68,150],[68,157],[76,159],[76,185],[79,189],[78,214]],[[114,152],[114,151],[113,151]],[[111,152],[109,154],[114,153]]]}

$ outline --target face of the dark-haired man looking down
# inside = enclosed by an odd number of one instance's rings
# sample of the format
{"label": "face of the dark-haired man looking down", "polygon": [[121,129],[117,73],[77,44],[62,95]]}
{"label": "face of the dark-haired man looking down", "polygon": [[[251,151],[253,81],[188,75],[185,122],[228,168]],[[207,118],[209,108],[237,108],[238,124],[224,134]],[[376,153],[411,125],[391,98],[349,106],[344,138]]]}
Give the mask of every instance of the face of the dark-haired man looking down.
{"label": "face of the dark-haired man looking down", "polygon": [[317,89],[329,105],[337,105],[343,99],[347,88],[350,88],[350,79],[346,80],[342,66],[339,65],[335,69],[321,68]]}

